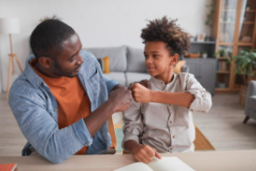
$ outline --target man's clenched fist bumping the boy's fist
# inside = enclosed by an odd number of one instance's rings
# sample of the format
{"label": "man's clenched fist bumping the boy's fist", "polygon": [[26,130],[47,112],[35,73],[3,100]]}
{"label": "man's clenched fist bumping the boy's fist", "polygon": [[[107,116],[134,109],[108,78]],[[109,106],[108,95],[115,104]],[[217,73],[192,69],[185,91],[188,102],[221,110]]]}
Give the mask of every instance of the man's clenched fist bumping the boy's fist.
{"label": "man's clenched fist bumping the boy's fist", "polygon": [[111,91],[108,101],[114,104],[114,112],[126,111],[133,102],[132,92],[125,86],[119,87]]}

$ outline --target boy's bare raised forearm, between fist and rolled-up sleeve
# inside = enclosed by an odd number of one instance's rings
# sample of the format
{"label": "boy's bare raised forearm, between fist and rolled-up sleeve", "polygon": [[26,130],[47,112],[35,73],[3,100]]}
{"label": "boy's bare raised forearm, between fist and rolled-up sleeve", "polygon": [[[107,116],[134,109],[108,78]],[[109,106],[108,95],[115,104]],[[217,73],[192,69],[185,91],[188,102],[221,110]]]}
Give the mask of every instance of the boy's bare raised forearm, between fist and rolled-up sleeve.
{"label": "boy's bare raised forearm, between fist and rolled-up sleeve", "polygon": [[194,96],[187,92],[162,92],[151,91],[151,102],[174,104],[185,108],[190,108]]}

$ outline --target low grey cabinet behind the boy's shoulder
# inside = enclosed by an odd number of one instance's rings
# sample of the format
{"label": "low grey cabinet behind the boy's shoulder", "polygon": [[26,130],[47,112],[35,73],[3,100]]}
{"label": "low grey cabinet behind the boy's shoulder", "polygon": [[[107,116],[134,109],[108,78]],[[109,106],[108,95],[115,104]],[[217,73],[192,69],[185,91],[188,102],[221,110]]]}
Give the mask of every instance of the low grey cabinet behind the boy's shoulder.
{"label": "low grey cabinet behind the boy's shoulder", "polygon": [[215,93],[217,59],[185,59],[190,73],[212,95]]}

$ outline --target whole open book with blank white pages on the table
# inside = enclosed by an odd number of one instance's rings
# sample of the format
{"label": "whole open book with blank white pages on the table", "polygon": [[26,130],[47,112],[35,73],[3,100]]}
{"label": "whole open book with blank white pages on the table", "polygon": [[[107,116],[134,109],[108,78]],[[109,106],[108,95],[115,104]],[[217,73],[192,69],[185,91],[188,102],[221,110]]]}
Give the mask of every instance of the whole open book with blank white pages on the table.
{"label": "whole open book with blank white pages on the table", "polygon": [[192,167],[183,163],[178,157],[154,158],[149,164],[141,162],[129,164],[114,171],[194,171]]}

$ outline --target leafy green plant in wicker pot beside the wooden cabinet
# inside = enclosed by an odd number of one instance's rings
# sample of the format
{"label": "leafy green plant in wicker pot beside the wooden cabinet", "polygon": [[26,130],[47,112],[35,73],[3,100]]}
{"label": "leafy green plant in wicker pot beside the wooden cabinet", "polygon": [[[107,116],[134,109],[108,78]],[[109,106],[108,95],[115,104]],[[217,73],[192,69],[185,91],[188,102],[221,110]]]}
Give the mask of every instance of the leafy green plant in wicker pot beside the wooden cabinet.
{"label": "leafy green plant in wicker pot beside the wooden cabinet", "polygon": [[241,52],[229,61],[235,60],[235,75],[238,74],[243,79],[243,84],[240,86],[240,104],[244,106],[247,87],[249,84],[249,77],[256,76],[256,51],[255,50],[241,50]]}

